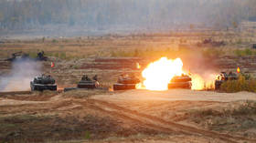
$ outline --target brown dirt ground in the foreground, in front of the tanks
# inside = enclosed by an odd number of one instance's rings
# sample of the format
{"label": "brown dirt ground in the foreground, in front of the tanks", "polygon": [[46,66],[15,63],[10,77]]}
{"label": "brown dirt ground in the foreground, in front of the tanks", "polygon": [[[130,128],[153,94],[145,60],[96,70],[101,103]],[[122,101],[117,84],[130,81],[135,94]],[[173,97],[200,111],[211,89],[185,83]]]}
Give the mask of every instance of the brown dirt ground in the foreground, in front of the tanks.
{"label": "brown dirt ground in the foreground, in front of the tanks", "polygon": [[[252,93],[131,90],[0,97],[1,140],[9,142],[255,142],[255,113],[219,115]],[[87,96],[86,96],[87,95]],[[201,112],[211,109],[212,113]],[[219,111],[219,114],[215,112]],[[254,110],[255,111],[255,110]],[[225,122],[226,116],[229,122]],[[223,123],[217,123],[222,117]],[[230,118],[233,118],[230,123]],[[252,121],[250,127],[238,119]],[[212,119],[212,124],[209,124]],[[247,120],[248,121],[248,120]],[[240,125],[241,124],[241,125]],[[249,123],[245,123],[249,124]],[[67,141],[67,142],[69,142]]]}

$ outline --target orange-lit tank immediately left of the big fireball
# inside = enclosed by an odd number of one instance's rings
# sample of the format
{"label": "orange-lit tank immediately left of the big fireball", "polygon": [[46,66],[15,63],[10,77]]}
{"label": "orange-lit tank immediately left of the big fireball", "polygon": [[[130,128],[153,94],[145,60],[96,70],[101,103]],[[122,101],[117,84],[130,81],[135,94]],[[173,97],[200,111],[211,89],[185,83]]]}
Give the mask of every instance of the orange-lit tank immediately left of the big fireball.
{"label": "orange-lit tank immediately left of the big fireball", "polygon": [[113,85],[113,90],[135,89],[140,83],[140,79],[130,75],[122,75],[118,78],[117,83]]}

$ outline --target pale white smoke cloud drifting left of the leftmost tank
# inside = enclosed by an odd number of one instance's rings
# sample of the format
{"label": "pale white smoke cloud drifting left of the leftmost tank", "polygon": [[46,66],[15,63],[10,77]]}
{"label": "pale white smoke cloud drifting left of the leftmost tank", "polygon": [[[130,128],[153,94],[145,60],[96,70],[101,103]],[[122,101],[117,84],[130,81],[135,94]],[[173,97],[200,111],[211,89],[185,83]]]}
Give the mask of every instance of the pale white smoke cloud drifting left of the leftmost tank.
{"label": "pale white smoke cloud drifting left of the leftmost tank", "polygon": [[30,81],[41,72],[41,63],[33,60],[17,60],[11,72],[0,77],[0,91],[30,90]]}

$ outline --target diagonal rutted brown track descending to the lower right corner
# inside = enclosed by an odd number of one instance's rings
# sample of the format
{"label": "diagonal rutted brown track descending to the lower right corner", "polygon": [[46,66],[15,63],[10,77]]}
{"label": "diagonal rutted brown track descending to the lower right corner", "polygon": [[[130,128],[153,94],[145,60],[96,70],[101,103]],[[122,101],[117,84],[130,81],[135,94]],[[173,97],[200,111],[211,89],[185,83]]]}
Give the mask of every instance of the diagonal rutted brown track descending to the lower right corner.
{"label": "diagonal rutted brown track descending to the lower right corner", "polygon": [[[251,142],[256,142],[256,139],[251,139],[251,138],[242,138],[242,137],[237,137],[237,136],[231,136],[231,135],[228,135],[228,134],[220,134],[220,133],[217,133],[217,132],[214,132],[214,131],[209,131],[209,130],[204,130],[204,129],[199,129],[199,128],[192,128],[192,127],[189,127],[189,126],[185,126],[185,125],[181,125],[181,124],[177,124],[175,122],[172,122],[172,121],[166,121],[162,118],[159,118],[159,117],[154,117],[154,116],[150,116],[150,115],[146,115],[146,114],[143,114],[143,113],[139,113],[137,111],[134,111],[134,110],[131,110],[131,109],[127,109],[127,108],[124,108],[124,107],[119,107],[115,104],[112,104],[112,103],[109,103],[109,102],[106,102],[106,101],[102,101],[102,100],[98,100],[98,99],[89,99],[88,100],[89,103],[93,104],[93,105],[96,105],[95,107],[99,107],[97,105],[100,105],[101,107],[106,107],[106,108],[109,108],[111,110],[117,110],[117,111],[109,111],[109,110],[106,110],[106,109],[102,109],[104,110],[105,112],[112,112],[113,115],[121,115],[123,116],[124,114],[128,115],[126,117],[129,117],[129,118],[133,118],[134,117],[136,118],[143,118],[144,121],[147,122],[147,124],[149,124],[149,126],[155,126],[155,127],[165,127],[165,128],[169,128],[171,130],[175,130],[175,132],[177,133],[185,133],[185,134],[189,134],[189,135],[203,135],[205,137],[208,137],[208,138],[219,138],[223,141],[226,141],[226,142],[232,142],[232,143],[235,143],[236,141],[234,140],[246,140],[246,141],[251,141]],[[119,112],[118,112],[119,111]],[[120,112],[122,111],[122,112]],[[144,121],[142,121],[141,119],[137,119],[136,120],[139,122],[142,122],[144,123]]]}

